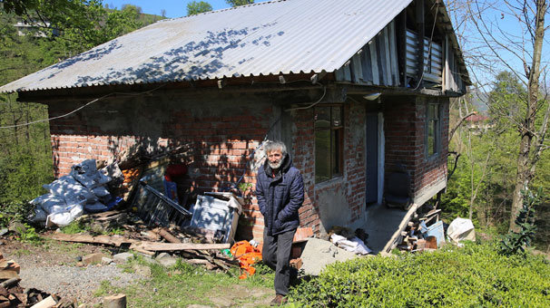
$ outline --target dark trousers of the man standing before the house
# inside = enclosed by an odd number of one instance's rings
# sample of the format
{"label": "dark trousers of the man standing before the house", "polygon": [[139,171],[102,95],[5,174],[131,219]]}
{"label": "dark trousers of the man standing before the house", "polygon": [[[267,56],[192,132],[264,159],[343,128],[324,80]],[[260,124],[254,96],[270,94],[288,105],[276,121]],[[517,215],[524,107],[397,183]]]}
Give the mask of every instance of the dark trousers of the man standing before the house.
{"label": "dark trousers of the man standing before the house", "polygon": [[263,231],[263,262],[275,270],[275,293],[286,295],[290,285],[290,250],[296,229],[268,236],[267,228]]}

